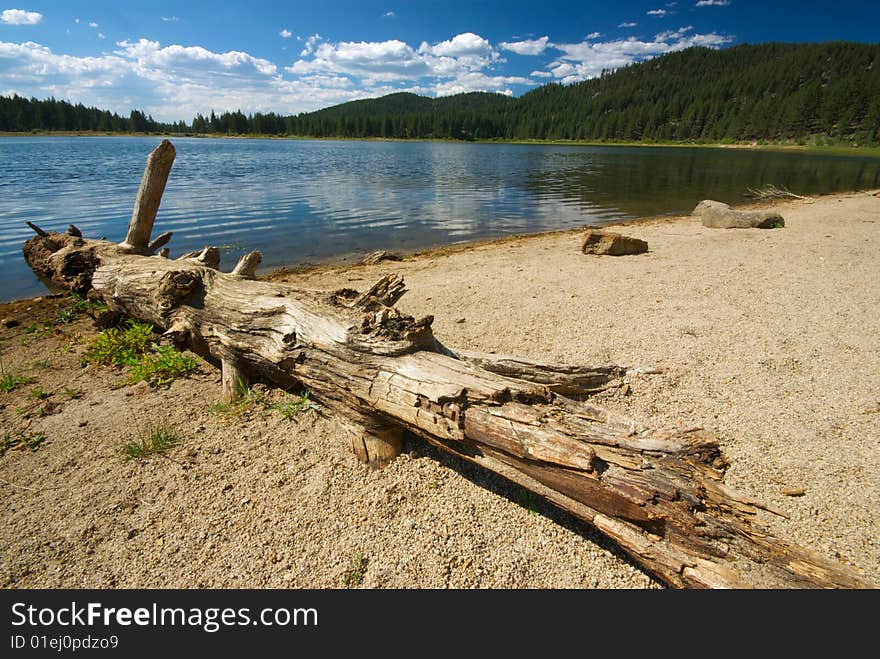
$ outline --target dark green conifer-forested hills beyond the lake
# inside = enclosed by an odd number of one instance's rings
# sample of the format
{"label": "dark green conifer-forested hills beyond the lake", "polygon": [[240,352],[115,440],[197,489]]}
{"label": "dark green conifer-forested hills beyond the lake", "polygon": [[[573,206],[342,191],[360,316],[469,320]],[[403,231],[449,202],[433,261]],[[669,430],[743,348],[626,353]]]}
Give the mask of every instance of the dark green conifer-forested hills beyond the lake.
{"label": "dark green conifer-forested hills beyond the lake", "polygon": [[114,130],[402,139],[880,144],[880,44],[689,48],[508,98],[391,94],[297,116],[211,112],[192,124],[0,97],[0,131]]}

